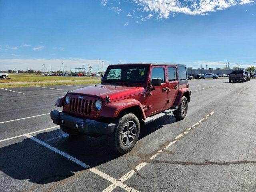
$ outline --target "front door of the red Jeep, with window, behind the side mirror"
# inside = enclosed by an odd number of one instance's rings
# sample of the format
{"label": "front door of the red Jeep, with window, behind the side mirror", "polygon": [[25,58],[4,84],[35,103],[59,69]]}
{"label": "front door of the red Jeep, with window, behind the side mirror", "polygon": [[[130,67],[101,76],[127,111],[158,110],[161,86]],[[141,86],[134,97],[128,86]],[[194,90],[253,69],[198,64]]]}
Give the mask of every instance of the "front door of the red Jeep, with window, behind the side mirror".
{"label": "front door of the red Jeep, with window, behind the side mirror", "polygon": [[160,78],[162,83],[161,86],[155,86],[155,90],[149,92],[148,108],[151,115],[164,110],[167,106],[167,86],[164,66],[152,66],[151,80],[153,78]]}

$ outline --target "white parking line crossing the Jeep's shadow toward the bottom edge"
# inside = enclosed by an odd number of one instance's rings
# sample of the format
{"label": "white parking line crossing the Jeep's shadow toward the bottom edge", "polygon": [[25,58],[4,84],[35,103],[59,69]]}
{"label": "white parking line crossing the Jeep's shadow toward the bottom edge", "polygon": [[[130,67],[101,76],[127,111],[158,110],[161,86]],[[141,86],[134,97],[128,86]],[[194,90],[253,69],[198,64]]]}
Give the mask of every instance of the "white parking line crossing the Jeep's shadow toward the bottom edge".
{"label": "white parking line crossing the Jeep's shadow toward the bottom edge", "polygon": [[[66,157],[67,159],[75,162],[76,164],[82,166],[83,168],[89,168],[90,167],[89,165],[85,164],[84,162],[74,158],[73,156],[70,156],[69,154],[66,154],[65,152],[63,152],[61,150],[58,150],[57,148],[55,148],[55,147],[53,147],[53,146],[51,146],[51,145],[49,145],[49,144],[47,144],[43,141],[31,136],[30,134],[25,134],[24,136],[26,136],[27,138],[30,138],[30,139],[34,140],[35,142],[47,147],[48,149]],[[122,189],[124,189],[128,192],[138,192],[134,188],[131,188],[131,187],[127,186],[126,184],[122,183],[121,181],[116,180],[115,178],[109,176],[108,174],[106,174],[104,172],[101,172],[100,170],[98,170],[96,168],[90,168],[89,171],[97,174],[98,176],[100,176],[100,177],[102,177],[102,178],[104,178],[104,179],[106,179],[110,182],[112,182],[115,186],[120,187],[120,188],[122,188]]]}

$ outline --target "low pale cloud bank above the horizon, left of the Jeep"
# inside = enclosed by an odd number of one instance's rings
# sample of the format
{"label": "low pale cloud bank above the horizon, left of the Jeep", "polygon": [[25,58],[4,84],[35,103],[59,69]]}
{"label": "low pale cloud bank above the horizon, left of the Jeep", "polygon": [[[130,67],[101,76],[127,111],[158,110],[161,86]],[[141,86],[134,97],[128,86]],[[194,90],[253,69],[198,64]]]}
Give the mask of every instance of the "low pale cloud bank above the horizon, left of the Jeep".
{"label": "low pale cloud bank above the horizon, left of the Jeep", "polygon": [[[49,70],[50,65],[52,65],[52,70],[62,70],[62,63],[64,63],[64,67],[67,66],[67,70],[70,68],[79,68],[82,65],[85,65],[86,71],[89,70],[88,64],[92,64],[92,71],[97,72],[98,70],[102,70],[102,61],[104,60],[88,60],[83,58],[63,58],[63,59],[0,59],[0,70],[4,70],[5,68],[14,69],[18,68],[21,70],[33,69],[33,70],[42,70],[42,65],[45,65]],[[104,70],[106,70],[109,62],[104,62]]]}

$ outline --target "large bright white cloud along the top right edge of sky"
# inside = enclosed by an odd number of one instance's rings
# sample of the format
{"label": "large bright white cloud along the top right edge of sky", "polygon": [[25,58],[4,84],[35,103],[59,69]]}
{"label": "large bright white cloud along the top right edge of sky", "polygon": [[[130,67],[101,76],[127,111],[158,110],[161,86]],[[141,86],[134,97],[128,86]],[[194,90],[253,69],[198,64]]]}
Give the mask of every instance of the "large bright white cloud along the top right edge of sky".
{"label": "large bright white cloud along the top right edge of sky", "polygon": [[224,10],[230,6],[243,5],[254,0],[133,0],[144,12],[156,14],[158,19],[169,18],[178,13],[207,15],[208,12]]}

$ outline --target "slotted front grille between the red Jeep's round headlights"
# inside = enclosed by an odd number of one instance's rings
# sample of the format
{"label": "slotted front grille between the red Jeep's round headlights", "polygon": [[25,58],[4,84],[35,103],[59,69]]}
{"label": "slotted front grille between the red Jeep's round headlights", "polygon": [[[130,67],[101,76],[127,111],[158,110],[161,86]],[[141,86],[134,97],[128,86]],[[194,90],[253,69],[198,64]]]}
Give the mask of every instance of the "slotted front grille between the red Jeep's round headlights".
{"label": "slotted front grille between the red Jeep's round headlights", "polygon": [[70,98],[69,111],[78,114],[90,115],[92,110],[92,100]]}

